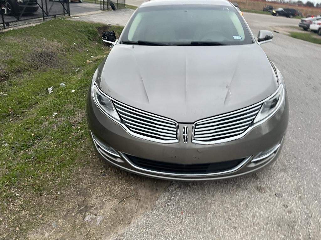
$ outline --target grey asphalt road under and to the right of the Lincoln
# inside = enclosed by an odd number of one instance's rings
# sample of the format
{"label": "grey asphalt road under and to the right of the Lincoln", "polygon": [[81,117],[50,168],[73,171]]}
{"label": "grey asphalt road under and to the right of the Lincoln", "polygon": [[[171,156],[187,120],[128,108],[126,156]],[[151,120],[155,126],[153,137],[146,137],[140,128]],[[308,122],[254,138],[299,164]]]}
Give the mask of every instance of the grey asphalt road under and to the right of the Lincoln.
{"label": "grey asphalt road under and to the right of the Lincoln", "polygon": [[[255,35],[299,21],[244,17]],[[290,104],[279,159],[230,180],[172,182],[116,239],[321,239],[321,47],[274,33],[262,48],[281,70]]]}

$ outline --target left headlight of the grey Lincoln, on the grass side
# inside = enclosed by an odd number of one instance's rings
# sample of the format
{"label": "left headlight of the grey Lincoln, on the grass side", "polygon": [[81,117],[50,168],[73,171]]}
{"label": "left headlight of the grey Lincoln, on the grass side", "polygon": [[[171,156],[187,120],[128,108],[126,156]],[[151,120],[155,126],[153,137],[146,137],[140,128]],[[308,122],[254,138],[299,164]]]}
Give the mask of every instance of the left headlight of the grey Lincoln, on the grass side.
{"label": "left headlight of the grey Lincoln, on the grass side", "polygon": [[100,108],[100,110],[103,113],[105,113],[107,116],[120,121],[120,118],[116,112],[114,104],[112,103],[110,98],[105,93],[100,91],[100,89],[98,88],[95,82],[94,84],[92,84],[91,88],[92,88],[92,97],[96,105],[98,106],[98,108]]}

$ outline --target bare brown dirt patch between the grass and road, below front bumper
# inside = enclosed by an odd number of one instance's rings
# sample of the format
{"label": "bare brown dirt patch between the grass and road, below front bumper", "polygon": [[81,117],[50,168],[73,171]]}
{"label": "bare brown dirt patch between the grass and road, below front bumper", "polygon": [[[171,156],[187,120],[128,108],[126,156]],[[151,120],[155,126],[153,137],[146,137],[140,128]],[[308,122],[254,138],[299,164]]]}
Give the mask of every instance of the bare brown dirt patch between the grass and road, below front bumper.
{"label": "bare brown dirt patch between the grass and road, below front bumper", "polygon": [[67,188],[35,199],[39,204],[28,239],[110,239],[150,209],[169,185],[104,166],[96,155],[74,172]]}

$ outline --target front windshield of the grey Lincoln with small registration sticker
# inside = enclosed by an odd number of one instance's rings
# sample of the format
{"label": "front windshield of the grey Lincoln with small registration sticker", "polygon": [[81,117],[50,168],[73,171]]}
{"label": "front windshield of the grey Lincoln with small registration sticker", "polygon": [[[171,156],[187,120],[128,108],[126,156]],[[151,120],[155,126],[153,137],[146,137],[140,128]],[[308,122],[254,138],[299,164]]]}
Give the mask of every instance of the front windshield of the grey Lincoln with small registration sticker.
{"label": "front windshield of the grey Lincoln with small registration sticker", "polygon": [[120,43],[239,45],[251,44],[253,40],[240,13],[232,6],[170,5],[139,8]]}

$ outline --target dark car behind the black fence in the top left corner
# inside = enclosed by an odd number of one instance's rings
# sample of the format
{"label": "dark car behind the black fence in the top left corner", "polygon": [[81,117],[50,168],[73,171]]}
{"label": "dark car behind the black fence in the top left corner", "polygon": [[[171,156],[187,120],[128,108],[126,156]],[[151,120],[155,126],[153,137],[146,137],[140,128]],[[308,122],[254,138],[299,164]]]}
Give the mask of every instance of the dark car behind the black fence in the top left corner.
{"label": "dark car behind the black fence in the top left corner", "polygon": [[37,12],[37,0],[0,0],[0,10],[4,15],[20,15]]}

